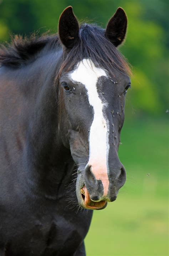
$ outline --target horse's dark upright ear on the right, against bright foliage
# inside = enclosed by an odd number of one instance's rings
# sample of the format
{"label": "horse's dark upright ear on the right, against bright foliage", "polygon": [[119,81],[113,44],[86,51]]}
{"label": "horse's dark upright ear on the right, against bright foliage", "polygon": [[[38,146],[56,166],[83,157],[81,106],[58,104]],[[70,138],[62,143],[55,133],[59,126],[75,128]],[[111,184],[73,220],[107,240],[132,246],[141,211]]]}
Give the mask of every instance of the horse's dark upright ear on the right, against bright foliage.
{"label": "horse's dark upright ear on the right, against bright foliage", "polygon": [[105,35],[114,46],[120,45],[126,35],[127,15],[125,11],[119,7],[113,17],[109,20]]}

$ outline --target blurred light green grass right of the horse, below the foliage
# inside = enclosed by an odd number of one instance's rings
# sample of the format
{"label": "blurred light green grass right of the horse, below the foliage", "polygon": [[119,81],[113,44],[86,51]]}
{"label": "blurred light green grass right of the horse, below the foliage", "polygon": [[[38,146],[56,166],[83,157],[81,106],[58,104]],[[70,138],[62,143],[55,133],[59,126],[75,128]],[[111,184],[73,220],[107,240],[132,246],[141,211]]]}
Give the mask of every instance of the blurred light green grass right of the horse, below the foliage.
{"label": "blurred light green grass right of the horse, below the foliage", "polygon": [[128,120],[119,157],[127,181],[115,202],[94,211],[87,256],[168,255],[168,124]]}

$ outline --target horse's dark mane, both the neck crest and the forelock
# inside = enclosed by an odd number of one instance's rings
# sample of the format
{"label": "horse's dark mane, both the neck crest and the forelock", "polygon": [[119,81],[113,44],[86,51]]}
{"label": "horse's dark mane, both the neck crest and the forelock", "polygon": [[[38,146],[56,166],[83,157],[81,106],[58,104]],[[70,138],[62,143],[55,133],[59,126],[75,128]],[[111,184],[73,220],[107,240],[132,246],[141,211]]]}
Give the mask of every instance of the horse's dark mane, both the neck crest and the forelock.
{"label": "horse's dark mane, both the neck crest and the forelock", "polygon": [[[104,29],[93,24],[83,24],[80,27],[79,37],[80,40],[76,45],[65,54],[60,74],[63,69],[65,72],[72,70],[77,62],[84,58],[90,58],[94,63],[99,63],[110,74],[114,68],[125,74],[131,74],[125,58],[104,36]],[[32,34],[30,38],[16,35],[12,37],[10,44],[1,45],[0,66],[20,67],[46,46],[47,49],[55,49],[58,44],[61,43],[57,34],[45,34],[41,37]]]}

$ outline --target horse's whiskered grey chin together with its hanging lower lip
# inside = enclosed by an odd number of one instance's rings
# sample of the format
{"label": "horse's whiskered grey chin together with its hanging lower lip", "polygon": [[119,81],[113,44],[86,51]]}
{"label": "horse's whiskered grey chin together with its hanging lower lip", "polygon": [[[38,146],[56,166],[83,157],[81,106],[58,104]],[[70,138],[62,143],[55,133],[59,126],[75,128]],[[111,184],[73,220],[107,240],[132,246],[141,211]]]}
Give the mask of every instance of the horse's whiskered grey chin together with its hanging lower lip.
{"label": "horse's whiskered grey chin together with its hanging lower lip", "polygon": [[78,176],[76,181],[76,195],[78,204],[84,209],[102,210],[107,206],[106,201],[94,202],[91,200],[88,190],[82,179],[82,176]]}

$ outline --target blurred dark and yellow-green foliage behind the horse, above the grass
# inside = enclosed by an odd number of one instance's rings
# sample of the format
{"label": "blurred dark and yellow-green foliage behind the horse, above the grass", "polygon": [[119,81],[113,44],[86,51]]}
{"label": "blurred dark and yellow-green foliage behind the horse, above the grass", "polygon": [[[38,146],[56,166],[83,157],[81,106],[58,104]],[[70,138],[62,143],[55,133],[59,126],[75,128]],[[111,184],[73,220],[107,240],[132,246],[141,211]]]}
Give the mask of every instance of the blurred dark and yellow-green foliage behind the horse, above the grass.
{"label": "blurred dark and yellow-green foliage behind the horse, above the grass", "polygon": [[126,43],[120,48],[133,66],[128,115],[165,115],[168,109],[168,0],[0,0],[0,41],[10,34],[57,31],[58,18],[68,5],[80,22],[105,27],[118,6],[128,16]]}

